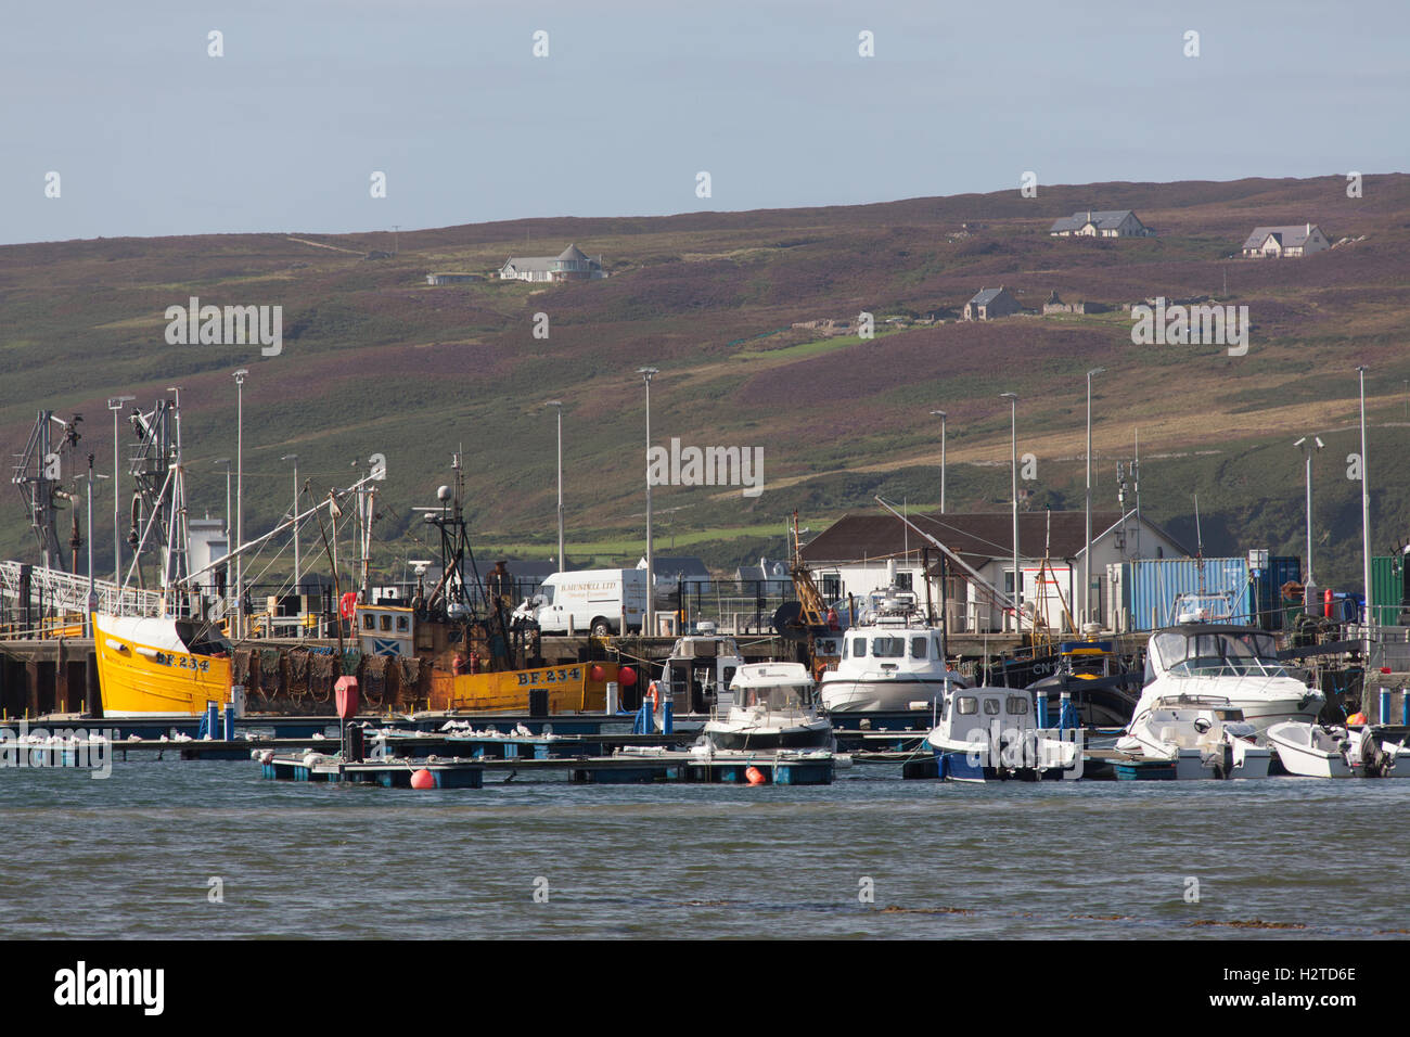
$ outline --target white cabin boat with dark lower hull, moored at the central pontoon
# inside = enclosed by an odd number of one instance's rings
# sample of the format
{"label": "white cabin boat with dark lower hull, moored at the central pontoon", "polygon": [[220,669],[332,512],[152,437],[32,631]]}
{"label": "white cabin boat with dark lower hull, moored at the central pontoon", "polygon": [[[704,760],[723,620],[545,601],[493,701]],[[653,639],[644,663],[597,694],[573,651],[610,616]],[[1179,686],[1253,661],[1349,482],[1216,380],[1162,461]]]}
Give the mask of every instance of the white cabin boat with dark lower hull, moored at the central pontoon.
{"label": "white cabin boat with dark lower hull, moored at the central pontoon", "polygon": [[819,715],[814,680],[802,663],[740,666],[730,686],[733,701],[705,722],[711,749],[822,749],[836,746],[832,722]]}

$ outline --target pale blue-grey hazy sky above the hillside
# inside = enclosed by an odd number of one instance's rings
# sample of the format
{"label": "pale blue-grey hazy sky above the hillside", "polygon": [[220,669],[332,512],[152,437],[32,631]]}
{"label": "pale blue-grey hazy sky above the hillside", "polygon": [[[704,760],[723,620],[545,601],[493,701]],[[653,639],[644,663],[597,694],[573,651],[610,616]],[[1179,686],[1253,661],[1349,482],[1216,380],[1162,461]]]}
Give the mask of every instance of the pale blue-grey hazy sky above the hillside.
{"label": "pale blue-grey hazy sky above the hillside", "polygon": [[1404,0],[10,4],[0,243],[1404,171],[1407,30]]}

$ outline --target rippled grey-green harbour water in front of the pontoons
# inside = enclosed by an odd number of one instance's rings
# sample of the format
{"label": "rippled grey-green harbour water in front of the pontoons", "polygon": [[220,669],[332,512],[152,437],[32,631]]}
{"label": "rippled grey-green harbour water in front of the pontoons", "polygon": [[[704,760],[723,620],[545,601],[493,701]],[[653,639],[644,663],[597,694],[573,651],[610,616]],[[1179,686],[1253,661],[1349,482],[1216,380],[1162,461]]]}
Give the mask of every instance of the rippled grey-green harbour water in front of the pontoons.
{"label": "rippled grey-green harbour water in front of the pontoons", "polygon": [[0,772],[0,937],[1399,938],[1407,820],[1400,780],[406,792],[120,760]]}

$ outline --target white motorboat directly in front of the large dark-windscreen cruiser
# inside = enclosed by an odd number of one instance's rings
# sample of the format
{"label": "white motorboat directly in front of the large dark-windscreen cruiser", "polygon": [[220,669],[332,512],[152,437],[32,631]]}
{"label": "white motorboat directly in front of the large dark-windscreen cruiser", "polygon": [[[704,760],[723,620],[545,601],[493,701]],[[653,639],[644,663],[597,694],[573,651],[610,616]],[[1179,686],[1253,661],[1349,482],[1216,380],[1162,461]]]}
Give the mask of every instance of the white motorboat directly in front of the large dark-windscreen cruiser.
{"label": "white motorboat directly in front of the large dark-windscreen cruiser", "polygon": [[1273,753],[1256,728],[1224,701],[1162,698],[1136,712],[1115,748],[1175,763],[1177,779],[1268,777]]}

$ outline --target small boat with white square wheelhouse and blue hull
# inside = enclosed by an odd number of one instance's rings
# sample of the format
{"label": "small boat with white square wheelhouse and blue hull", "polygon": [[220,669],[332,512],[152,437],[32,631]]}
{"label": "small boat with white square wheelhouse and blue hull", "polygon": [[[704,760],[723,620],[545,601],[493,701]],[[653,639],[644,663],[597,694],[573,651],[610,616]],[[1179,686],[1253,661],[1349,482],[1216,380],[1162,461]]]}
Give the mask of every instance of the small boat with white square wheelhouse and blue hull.
{"label": "small boat with white square wheelhouse and blue hull", "polygon": [[1039,731],[1034,693],[1012,687],[952,687],[925,738],[939,776],[950,782],[1038,780],[1081,775],[1081,744]]}

